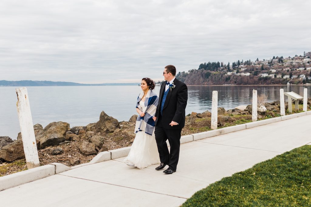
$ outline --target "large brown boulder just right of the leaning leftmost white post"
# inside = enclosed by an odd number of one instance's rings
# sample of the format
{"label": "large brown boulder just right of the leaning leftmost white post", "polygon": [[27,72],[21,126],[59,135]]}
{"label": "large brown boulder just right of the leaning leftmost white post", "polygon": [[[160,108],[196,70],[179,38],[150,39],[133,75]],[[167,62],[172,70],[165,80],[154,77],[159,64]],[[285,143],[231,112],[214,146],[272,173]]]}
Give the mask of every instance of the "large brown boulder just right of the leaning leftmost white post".
{"label": "large brown boulder just right of the leaning leftmost white post", "polygon": [[66,122],[59,121],[48,124],[37,137],[40,140],[40,149],[64,142],[66,132],[69,130],[69,124]]}

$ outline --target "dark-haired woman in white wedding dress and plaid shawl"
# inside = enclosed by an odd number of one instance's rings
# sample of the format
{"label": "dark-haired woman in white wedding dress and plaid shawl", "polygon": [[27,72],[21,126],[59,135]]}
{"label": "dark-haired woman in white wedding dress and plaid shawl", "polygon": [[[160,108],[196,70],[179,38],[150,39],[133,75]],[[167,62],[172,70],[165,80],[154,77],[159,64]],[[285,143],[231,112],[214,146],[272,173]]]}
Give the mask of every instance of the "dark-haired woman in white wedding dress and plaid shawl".
{"label": "dark-haired woman in white wedding dress and plaid shawl", "polygon": [[152,90],[153,80],[143,78],[142,92],[137,98],[136,111],[139,114],[135,126],[135,139],[124,163],[139,169],[152,164],[160,164],[160,157],[154,135],[155,122],[152,119],[156,113],[159,97]]}

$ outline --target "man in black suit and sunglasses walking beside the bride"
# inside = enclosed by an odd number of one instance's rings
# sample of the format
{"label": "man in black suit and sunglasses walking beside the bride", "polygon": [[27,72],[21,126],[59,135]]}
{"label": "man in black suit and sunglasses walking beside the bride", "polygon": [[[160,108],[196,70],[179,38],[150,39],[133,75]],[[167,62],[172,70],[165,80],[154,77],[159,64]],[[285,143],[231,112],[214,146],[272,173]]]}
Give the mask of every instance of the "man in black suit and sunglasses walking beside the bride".
{"label": "man in black suit and sunglasses walking beside the bride", "polygon": [[[161,164],[156,170],[168,169],[163,173],[172,174],[176,172],[179,160],[179,147],[181,129],[185,126],[185,109],[188,100],[188,88],[186,84],[175,78],[176,68],[167,65],[163,76],[166,80],[161,85],[159,104],[155,117],[155,136]],[[170,151],[166,140],[169,140]]]}

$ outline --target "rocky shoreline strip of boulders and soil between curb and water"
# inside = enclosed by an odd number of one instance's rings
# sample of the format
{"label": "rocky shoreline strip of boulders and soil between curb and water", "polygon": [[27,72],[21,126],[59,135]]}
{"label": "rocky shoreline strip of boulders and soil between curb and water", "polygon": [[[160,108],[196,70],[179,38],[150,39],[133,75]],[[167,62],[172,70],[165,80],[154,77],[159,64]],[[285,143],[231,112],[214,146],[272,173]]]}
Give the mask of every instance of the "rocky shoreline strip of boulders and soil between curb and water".
{"label": "rocky shoreline strip of boulders and soil between curb and water", "polygon": [[[310,110],[311,98],[308,98]],[[302,102],[299,102],[302,104]],[[288,104],[285,102],[285,110]],[[294,105],[293,105],[294,107]],[[302,106],[301,106],[302,108]],[[301,112],[293,109],[293,113]],[[268,119],[280,116],[280,101],[258,104],[258,119]],[[286,114],[289,114],[286,111]],[[102,151],[131,146],[134,141],[137,115],[128,121],[118,122],[117,119],[100,113],[96,123],[70,128],[66,122],[52,122],[45,128],[40,124],[34,125],[40,165],[53,162],[67,166],[87,163]],[[238,106],[225,110],[218,108],[218,128],[244,124],[252,120],[252,105]],[[211,130],[211,112],[192,112],[186,116],[182,136]],[[0,176],[27,169],[21,133],[17,140],[10,137],[0,137]]]}

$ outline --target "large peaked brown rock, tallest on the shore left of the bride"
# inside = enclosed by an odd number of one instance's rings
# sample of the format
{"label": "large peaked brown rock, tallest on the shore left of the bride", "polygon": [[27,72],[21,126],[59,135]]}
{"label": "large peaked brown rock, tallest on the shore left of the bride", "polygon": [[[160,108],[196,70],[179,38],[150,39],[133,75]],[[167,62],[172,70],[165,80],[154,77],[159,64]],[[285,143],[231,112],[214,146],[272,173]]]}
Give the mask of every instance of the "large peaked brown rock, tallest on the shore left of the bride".
{"label": "large peaked brown rock, tallest on the shore left of the bride", "polygon": [[[88,127],[88,126],[86,126]],[[91,126],[86,131],[92,131],[94,133],[103,133],[103,132],[109,132],[112,133],[117,128],[120,128],[120,124],[117,119],[114,119],[112,116],[108,116],[104,111],[100,113],[99,121],[96,122],[93,126]]]}

